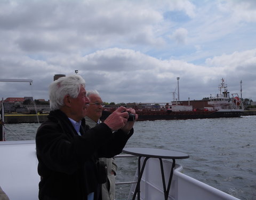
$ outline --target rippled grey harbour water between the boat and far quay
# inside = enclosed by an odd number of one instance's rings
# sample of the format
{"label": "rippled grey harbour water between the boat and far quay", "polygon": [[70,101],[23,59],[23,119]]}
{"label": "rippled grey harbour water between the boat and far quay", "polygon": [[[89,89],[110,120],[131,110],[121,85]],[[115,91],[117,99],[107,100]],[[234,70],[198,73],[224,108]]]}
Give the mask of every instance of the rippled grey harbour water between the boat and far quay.
{"label": "rippled grey harbour water between the boat and far quay", "polygon": [[[243,200],[256,199],[256,116],[136,122],[126,147],[177,150],[183,173]],[[6,124],[6,140],[34,140],[39,124]],[[137,158],[116,158],[116,181],[133,181]],[[129,185],[116,186],[127,199]]]}

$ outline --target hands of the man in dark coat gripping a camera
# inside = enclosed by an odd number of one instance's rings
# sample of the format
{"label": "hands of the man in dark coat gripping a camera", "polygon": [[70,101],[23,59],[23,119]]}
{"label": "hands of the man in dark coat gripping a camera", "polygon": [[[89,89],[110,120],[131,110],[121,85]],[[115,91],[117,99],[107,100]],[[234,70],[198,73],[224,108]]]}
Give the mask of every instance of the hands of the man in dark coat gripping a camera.
{"label": "hands of the man in dark coat gripping a camera", "polygon": [[117,131],[118,129],[122,129],[125,133],[129,133],[132,129],[134,122],[127,121],[129,118],[129,113],[135,115],[135,121],[138,119],[138,115],[135,114],[135,110],[132,108],[125,108],[125,107],[119,107],[117,108],[111,115],[108,116],[108,118],[105,119],[103,123],[108,125],[108,127],[113,130]]}

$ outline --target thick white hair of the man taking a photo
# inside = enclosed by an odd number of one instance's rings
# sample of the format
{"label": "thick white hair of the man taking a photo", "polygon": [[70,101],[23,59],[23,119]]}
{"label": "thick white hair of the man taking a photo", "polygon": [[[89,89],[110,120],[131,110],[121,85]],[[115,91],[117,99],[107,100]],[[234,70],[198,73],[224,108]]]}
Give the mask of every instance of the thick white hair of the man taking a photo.
{"label": "thick white hair of the man taking a photo", "polygon": [[64,97],[69,94],[71,98],[77,98],[81,86],[85,87],[85,81],[80,75],[60,77],[49,86],[49,98],[51,110],[58,110],[64,106]]}

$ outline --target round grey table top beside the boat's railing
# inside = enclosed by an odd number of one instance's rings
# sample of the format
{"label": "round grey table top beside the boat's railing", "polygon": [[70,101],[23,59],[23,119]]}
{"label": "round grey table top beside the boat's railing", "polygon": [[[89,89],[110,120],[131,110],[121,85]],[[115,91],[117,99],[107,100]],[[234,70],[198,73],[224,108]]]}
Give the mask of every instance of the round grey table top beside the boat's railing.
{"label": "round grey table top beside the boat's railing", "polygon": [[123,153],[131,154],[135,156],[150,157],[150,158],[166,158],[166,159],[189,158],[188,154],[182,153],[180,151],[155,149],[155,148],[129,147],[129,148],[124,148]]}

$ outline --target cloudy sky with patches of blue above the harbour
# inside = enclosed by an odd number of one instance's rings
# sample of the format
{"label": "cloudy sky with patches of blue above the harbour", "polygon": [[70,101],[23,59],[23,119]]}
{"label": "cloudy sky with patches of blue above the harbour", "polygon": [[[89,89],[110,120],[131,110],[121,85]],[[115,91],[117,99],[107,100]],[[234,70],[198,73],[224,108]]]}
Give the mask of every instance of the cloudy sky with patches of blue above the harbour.
{"label": "cloudy sky with patches of blue above the harbour", "polygon": [[84,77],[106,102],[256,101],[254,0],[0,0],[0,97],[48,100],[55,74]]}

